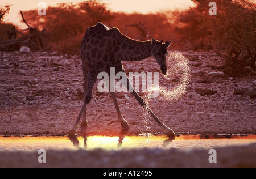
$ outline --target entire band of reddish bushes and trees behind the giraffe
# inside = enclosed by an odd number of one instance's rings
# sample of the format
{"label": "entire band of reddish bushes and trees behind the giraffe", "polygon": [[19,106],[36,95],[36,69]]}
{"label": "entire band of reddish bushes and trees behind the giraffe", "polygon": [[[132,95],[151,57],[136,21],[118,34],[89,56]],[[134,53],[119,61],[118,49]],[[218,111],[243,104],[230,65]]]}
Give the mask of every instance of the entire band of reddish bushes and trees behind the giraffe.
{"label": "entire band of reddish bushes and trees behind the giraffe", "polygon": [[24,16],[34,27],[46,27],[52,35],[52,50],[63,54],[80,54],[82,36],[88,27],[97,22],[117,27],[133,39],[139,39],[141,32],[131,27],[127,31],[126,27],[141,23],[147,29],[147,36],[172,40],[170,49],[214,50],[224,59],[223,70],[226,74],[255,71],[255,4],[245,0],[216,0],[217,15],[210,16],[210,0],[192,1],[196,6],[188,7],[186,11],[146,15],[112,12],[101,1],[93,0],[48,7],[46,16],[38,16],[37,10],[24,12]]}

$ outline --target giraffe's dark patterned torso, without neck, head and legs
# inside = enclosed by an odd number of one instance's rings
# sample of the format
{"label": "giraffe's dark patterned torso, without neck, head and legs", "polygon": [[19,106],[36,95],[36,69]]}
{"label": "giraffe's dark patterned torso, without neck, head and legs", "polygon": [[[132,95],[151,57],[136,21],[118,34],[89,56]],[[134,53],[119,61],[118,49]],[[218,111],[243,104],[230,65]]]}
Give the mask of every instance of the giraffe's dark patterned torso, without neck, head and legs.
{"label": "giraffe's dark patterned torso, without neck, head and legs", "polygon": [[115,53],[120,50],[120,34],[117,28],[109,28],[102,23],[88,28],[80,45],[82,63],[94,69],[95,73],[108,72],[110,67],[122,68],[121,61],[115,58]]}

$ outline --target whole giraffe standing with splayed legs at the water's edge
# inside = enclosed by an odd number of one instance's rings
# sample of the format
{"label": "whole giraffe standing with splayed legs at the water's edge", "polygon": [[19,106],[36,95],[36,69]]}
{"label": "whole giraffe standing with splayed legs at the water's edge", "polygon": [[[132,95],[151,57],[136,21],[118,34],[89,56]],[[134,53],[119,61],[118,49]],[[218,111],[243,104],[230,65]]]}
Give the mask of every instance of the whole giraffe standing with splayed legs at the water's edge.
{"label": "whole giraffe standing with splayed legs at the water's edge", "polygon": [[[83,88],[86,95],[84,97],[84,104],[82,105],[79,116],[72,128],[69,130],[68,135],[76,135],[81,117],[81,128],[87,127],[88,125],[88,121],[86,119],[86,105],[90,103],[90,100],[92,100],[92,90],[94,83],[97,81],[98,73],[104,71],[110,75],[111,67],[115,68],[115,74],[118,72],[125,72],[122,61],[139,61],[153,56],[159,64],[161,72],[166,75],[166,56],[168,55],[167,48],[170,46],[171,42],[172,41],[166,41],[163,44],[163,40],[160,42],[155,39],[148,41],[133,40],[123,35],[118,28],[106,27],[106,25],[101,22],[98,22],[93,27],[89,27],[86,30],[80,45],[82,70],[84,74]],[[127,76],[125,77],[128,79]],[[111,85],[113,83],[109,82],[109,84]],[[127,89],[132,89],[129,92],[135,97],[138,103],[146,109],[152,118],[154,118],[163,132],[166,133],[168,137],[174,137],[174,131],[155,116],[142,97],[134,91],[129,80],[127,80],[126,87]],[[110,95],[113,99],[115,109],[117,110],[118,120],[121,123],[122,129],[128,130],[129,124],[120,112],[115,92],[110,91]]]}

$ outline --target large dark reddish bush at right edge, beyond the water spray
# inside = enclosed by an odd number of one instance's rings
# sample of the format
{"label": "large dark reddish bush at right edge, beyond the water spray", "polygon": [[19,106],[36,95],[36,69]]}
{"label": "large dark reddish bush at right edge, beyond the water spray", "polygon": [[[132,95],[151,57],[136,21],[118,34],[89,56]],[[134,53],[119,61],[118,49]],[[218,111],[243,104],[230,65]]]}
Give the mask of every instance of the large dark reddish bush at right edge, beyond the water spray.
{"label": "large dark reddish bush at right edge, beyond the water spray", "polygon": [[196,19],[207,31],[205,44],[210,44],[224,58],[224,73],[245,74],[247,66],[256,70],[256,8],[244,0],[216,0],[217,15],[208,14],[210,1],[193,0]]}

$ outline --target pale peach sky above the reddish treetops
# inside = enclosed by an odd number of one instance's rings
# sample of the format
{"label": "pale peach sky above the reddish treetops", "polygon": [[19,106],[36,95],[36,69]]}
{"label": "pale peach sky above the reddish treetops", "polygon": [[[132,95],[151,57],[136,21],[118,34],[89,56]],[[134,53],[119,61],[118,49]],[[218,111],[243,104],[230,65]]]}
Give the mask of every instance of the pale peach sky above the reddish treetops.
{"label": "pale peach sky above the reddish treetops", "polygon": [[[1,0],[0,6],[6,4],[13,4],[11,6],[10,13],[3,19],[5,22],[11,22],[16,25],[20,25],[21,17],[19,10],[26,11],[32,9],[38,9],[39,2],[46,2],[46,6],[55,6],[61,2],[81,2],[82,0]],[[113,11],[123,12],[140,12],[147,14],[149,12],[156,12],[166,9],[182,8],[187,9],[188,5],[192,6],[191,0],[101,0],[106,3],[108,8]],[[47,12],[46,12],[47,13]],[[26,26],[24,26],[26,27]]]}

